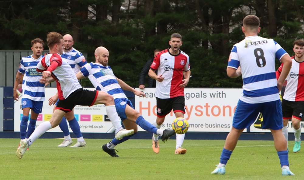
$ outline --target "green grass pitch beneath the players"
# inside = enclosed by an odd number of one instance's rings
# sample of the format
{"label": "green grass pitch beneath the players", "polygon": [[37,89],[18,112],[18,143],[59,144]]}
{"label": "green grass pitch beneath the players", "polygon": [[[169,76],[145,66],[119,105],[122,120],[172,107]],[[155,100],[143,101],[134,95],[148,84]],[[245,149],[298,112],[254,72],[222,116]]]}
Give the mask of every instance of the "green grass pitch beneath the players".
{"label": "green grass pitch beneath the players", "polygon": [[[175,140],[160,142],[160,153],[151,140],[130,139],[116,146],[119,158],[102,151],[107,139],[86,139],[84,148],[57,148],[62,139],[38,139],[18,159],[19,139],[0,139],[0,179],[106,179],[106,180],[194,180],[304,179],[304,150],[289,153],[295,176],[281,175],[273,141],[239,141],[226,166],[225,175],[211,175],[223,149],[223,140],[185,140],[185,155],[174,155]],[[76,140],[73,140],[74,143]],[[293,141],[289,142],[292,151]]]}

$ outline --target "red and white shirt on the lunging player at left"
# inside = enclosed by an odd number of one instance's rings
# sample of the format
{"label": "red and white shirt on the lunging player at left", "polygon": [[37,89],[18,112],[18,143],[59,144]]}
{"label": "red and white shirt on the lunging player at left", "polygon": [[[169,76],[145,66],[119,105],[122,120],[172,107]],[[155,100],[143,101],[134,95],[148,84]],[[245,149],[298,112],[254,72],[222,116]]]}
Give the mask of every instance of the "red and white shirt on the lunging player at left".
{"label": "red and white shirt on the lunging player at left", "polygon": [[37,65],[37,71],[50,71],[51,76],[56,80],[58,97],[60,100],[66,99],[75,90],[81,88],[71,66],[62,60],[60,55],[46,54]]}

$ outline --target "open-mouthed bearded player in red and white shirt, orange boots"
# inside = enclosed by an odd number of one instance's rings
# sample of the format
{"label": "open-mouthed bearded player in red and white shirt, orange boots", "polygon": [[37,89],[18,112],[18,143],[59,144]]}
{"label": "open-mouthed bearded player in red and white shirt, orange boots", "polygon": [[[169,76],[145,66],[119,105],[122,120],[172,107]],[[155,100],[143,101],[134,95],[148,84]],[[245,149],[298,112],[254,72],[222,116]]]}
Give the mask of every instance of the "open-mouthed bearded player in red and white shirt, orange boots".
{"label": "open-mouthed bearded player in red and white shirt, orange boots", "polygon": [[[172,109],[176,118],[185,114],[184,87],[189,82],[191,72],[189,56],[180,50],[182,43],[180,34],[172,34],[169,41],[171,48],[158,53],[150,66],[149,76],[156,80],[157,117],[153,125],[157,128],[161,127]],[[184,138],[185,134],[176,134],[175,154],[186,153],[187,150],[181,147]],[[152,148],[155,153],[159,152],[157,134],[153,134]]]}

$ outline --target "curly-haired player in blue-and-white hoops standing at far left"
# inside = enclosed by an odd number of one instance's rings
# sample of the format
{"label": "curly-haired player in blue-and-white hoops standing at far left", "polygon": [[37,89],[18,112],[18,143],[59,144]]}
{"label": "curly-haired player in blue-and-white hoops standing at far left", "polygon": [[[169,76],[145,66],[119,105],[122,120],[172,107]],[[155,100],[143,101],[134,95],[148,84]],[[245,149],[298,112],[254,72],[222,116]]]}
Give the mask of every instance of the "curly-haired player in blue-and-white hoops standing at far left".
{"label": "curly-haired player in blue-and-white hoops standing at far left", "polygon": [[[39,113],[42,111],[44,96],[44,84],[39,80],[42,73],[36,70],[37,64],[43,58],[42,51],[44,42],[40,38],[33,39],[31,41],[31,49],[33,54],[27,57],[22,57],[20,69],[16,74],[14,85],[14,99],[18,100],[19,95],[17,87],[22,80],[22,110],[23,116],[20,122],[20,139],[29,138],[36,127],[36,121]],[[29,110],[31,110],[31,117],[29,119]],[[29,120],[29,125],[27,124]],[[27,130],[27,131],[26,131]]]}

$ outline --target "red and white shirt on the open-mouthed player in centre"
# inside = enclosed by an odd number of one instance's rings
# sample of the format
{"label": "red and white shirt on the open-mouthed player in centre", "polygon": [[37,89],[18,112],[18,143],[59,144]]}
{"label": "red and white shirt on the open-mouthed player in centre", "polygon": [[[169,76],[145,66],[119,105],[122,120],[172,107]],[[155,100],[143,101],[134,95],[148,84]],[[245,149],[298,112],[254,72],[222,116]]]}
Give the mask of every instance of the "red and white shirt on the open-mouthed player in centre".
{"label": "red and white shirt on the open-mouthed player in centre", "polygon": [[180,50],[178,55],[173,55],[165,49],[155,56],[152,70],[157,70],[157,75],[163,75],[164,81],[156,81],[155,97],[169,99],[184,96],[182,84],[184,71],[190,70],[189,56]]}

